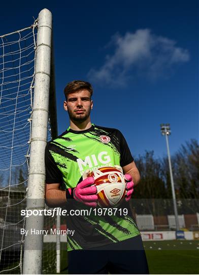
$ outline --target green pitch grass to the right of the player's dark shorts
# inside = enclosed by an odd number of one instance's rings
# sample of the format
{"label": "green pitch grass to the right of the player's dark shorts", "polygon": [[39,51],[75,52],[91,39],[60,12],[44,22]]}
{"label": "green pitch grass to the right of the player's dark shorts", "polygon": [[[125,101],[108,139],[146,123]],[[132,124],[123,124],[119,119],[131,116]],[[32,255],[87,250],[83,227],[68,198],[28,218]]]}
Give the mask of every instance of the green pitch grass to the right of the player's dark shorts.
{"label": "green pitch grass to the right of the player's dark shorts", "polygon": [[145,241],[144,246],[150,274],[199,273],[199,240]]}

